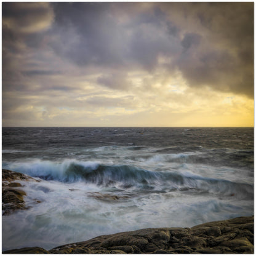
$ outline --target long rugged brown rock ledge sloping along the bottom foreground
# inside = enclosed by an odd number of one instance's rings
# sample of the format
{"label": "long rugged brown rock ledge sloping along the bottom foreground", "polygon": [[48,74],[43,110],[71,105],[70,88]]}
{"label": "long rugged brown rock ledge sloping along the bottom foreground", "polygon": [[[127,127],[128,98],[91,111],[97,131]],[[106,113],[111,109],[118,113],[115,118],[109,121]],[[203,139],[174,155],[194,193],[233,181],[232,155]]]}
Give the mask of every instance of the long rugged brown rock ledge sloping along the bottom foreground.
{"label": "long rugged brown rock ledge sloping along the bottom foreground", "polygon": [[85,242],[7,250],[4,254],[253,254],[254,217],[209,222],[193,228],[146,228]]}

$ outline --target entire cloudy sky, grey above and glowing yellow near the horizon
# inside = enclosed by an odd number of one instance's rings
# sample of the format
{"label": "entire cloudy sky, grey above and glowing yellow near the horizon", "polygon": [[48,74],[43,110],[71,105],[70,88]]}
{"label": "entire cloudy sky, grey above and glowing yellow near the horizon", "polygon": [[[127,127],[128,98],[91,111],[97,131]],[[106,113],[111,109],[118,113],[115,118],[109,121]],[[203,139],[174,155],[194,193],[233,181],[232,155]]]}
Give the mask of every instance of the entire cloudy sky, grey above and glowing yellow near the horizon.
{"label": "entire cloudy sky, grey above and glowing yellow near the horizon", "polygon": [[2,126],[254,126],[254,2],[3,2]]}

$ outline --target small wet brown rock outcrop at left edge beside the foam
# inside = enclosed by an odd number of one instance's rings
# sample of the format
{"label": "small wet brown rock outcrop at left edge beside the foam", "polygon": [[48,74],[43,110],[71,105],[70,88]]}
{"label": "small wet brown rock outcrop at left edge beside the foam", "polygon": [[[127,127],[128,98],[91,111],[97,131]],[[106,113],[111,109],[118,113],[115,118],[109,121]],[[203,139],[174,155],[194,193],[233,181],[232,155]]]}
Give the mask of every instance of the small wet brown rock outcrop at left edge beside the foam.
{"label": "small wet brown rock outcrop at left edge beside the foam", "polygon": [[26,193],[20,189],[22,185],[15,182],[17,180],[38,182],[28,175],[2,169],[2,215],[11,214],[18,209],[28,209],[23,198]]}

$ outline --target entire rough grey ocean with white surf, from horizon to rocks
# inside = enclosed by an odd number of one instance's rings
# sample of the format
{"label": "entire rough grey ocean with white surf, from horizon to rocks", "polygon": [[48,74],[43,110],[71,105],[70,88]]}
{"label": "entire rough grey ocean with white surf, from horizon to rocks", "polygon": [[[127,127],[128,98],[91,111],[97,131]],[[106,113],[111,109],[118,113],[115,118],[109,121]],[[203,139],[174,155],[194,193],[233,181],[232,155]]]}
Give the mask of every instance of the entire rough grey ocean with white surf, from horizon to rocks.
{"label": "entire rough grey ocean with white surf, from horizon to rocks", "polygon": [[254,214],[253,128],[3,127],[2,168],[40,180],[3,250]]}

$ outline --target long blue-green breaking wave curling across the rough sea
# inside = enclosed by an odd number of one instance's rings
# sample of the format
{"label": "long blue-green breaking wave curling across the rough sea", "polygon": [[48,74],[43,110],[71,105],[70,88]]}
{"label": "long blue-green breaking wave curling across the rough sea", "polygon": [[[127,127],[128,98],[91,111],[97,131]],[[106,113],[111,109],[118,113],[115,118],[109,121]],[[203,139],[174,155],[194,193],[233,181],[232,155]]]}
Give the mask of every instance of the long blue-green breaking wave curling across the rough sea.
{"label": "long blue-green breaking wave curling across the rough sea", "polygon": [[15,163],[6,166],[44,180],[58,182],[93,183],[101,187],[116,187],[148,191],[190,191],[220,196],[253,199],[254,185],[231,182],[218,178],[207,178],[195,174],[181,174],[171,170],[151,171],[129,165],[105,165],[98,162],[36,161]]}

